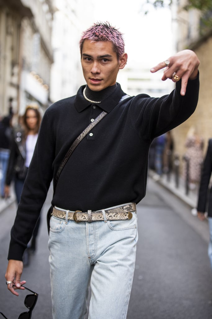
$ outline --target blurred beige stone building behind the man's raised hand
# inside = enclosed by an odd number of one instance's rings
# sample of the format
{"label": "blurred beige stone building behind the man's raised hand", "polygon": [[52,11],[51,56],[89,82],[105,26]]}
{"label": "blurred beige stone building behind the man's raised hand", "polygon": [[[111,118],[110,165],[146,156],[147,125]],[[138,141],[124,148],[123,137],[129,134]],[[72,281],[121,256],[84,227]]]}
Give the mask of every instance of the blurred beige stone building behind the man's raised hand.
{"label": "blurred beige stone building behind the man's raised hand", "polygon": [[208,139],[212,137],[212,30],[201,35],[201,14],[197,10],[183,10],[185,3],[185,0],[178,1],[176,48],[177,51],[188,48],[197,54],[200,60],[200,93],[194,114],[172,131],[175,145],[174,152],[179,154],[181,167],[183,166],[183,155],[186,151],[185,141],[191,127],[194,127],[198,135],[204,139],[204,154],[207,149]]}

